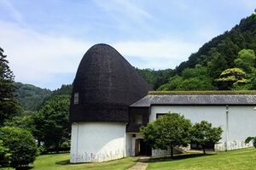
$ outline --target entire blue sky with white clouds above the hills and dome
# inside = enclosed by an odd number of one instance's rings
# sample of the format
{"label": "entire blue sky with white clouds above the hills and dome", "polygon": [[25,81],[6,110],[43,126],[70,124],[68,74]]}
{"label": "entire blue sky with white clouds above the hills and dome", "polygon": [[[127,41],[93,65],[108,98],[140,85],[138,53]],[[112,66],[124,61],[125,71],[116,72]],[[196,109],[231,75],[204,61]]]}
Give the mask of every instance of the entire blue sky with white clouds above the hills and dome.
{"label": "entire blue sky with white clouds above the hills and dome", "polygon": [[73,82],[84,53],[108,43],[131,65],[175,68],[253,13],[255,0],[0,0],[0,47],[16,82]]}

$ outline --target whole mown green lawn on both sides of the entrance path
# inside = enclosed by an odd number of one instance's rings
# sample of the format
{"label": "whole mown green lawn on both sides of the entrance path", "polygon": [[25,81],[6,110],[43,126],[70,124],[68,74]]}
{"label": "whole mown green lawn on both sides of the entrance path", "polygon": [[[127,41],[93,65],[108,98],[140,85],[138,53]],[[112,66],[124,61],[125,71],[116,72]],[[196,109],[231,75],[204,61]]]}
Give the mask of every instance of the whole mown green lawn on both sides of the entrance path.
{"label": "whole mown green lawn on both sides of the entrance path", "polygon": [[[31,165],[32,170],[122,170],[132,167],[137,157],[128,157],[103,163],[70,164],[69,154],[38,156]],[[184,156],[151,158],[147,170],[256,170],[256,149],[227,152],[191,153]],[[2,168],[0,168],[2,170]]]}

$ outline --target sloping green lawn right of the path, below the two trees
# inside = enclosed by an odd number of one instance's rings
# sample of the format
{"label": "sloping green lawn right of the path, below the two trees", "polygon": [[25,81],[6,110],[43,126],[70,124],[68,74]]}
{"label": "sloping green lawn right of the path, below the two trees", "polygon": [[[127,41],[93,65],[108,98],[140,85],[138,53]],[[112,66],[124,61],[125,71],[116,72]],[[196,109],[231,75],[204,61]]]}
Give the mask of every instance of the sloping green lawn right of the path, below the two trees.
{"label": "sloping green lawn right of the path, below the two trees", "polygon": [[256,149],[232,150],[227,152],[210,153],[207,156],[191,154],[190,156],[176,156],[152,158],[147,170],[253,170],[256,169]]}

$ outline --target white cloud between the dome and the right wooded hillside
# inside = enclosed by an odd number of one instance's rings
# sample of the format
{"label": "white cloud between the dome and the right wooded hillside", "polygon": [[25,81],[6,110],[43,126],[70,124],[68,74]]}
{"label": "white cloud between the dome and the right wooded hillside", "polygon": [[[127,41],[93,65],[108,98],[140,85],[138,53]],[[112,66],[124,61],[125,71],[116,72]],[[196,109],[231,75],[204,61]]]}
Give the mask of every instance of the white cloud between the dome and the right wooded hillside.
{"label": "white cloud between the dome and the right wooded hillside", "polygon": [[188,59],[192,52],[196,52],[201,44],[173,39],[141,41],[141,42],[116,42],[113,47],[120,54],[131,58],[137,57],[142,63],[136,66],[141,68],[174,68],[182,61]]}

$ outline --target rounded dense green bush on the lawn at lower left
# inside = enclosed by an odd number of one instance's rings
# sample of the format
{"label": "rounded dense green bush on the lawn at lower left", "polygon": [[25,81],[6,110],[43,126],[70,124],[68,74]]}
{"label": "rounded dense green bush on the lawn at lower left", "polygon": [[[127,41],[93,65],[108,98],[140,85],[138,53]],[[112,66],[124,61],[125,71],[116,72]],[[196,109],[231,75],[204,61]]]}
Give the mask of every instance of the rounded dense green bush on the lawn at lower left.
{"label": "rounded dense green bush on the lawn at lower left", "polygon": [[1,127],[0,140],[9,149],[10,166],[23,167],[32,163],[37,155],[37,144],[32,134],[19,127]]}

